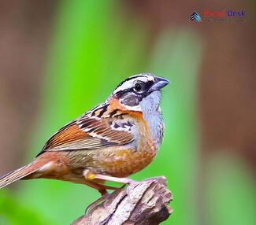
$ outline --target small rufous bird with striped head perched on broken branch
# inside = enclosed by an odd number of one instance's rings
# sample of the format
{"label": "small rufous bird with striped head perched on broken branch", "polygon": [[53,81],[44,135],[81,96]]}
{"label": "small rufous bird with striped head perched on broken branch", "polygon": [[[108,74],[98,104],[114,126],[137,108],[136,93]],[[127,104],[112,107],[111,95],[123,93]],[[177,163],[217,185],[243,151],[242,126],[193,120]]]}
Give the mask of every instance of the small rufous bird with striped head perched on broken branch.
{"label": "small rufous bird with striped head perched on broken branch", "polygon": [[59,179],[83,183],[102,195],[131,183],[154,159],[164,124],[159,107],[167,79],[142,73],[121,82],[105,102],[62,127],[31,164],[0,178],[0,188],[19,179]]}

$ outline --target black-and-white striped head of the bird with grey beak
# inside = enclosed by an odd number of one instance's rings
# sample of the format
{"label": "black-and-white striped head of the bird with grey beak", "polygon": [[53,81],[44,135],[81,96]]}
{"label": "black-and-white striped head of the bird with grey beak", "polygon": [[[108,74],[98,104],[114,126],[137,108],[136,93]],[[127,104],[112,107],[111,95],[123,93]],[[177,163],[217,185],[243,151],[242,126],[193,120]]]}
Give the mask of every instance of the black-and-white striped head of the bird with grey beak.
{"label": "black-and-white striped head of the bird with grey beak", "polygon": [[[110,98],[118,99],[126,109],[143,111],[141,107],[143,100],[150,99],[150,101],[155,101],[154,105],[159,105],[161,98],[160,90],[168,83],[169,80],[150,73],[138,74],[120,83],[113,90]],[[152,98],[154,96],[158,96],[158,99]]]}

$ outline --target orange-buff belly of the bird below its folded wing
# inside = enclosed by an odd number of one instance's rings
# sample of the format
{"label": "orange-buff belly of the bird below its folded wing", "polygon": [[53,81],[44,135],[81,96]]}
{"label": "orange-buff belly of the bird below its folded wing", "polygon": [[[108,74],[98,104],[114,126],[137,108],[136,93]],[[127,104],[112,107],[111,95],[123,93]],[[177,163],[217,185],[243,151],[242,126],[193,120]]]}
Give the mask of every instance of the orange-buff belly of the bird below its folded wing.
{"label": "orange-buff belly of the bird below its folded wing", "polygon": [[67,153],[68,167],[76,173],[89,169],[93,173],[127,177],[147,167],[154,159],[156,152],[157,150],[148,145],[139,150],[109,147],[71,151]]}

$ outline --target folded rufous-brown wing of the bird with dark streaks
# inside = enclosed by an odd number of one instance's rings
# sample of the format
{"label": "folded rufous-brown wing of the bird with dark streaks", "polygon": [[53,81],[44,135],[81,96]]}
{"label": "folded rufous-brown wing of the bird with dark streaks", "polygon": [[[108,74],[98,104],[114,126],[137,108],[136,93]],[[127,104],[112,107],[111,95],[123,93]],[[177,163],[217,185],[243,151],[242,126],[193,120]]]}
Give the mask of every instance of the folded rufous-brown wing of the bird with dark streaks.
{"label": "folded rufous-brown wing of the bird with dark streaks", "polygon": [[128,120],[93,118],[85,114],[53,135],[42,152],[123,146],[135,139],[133,127]]}

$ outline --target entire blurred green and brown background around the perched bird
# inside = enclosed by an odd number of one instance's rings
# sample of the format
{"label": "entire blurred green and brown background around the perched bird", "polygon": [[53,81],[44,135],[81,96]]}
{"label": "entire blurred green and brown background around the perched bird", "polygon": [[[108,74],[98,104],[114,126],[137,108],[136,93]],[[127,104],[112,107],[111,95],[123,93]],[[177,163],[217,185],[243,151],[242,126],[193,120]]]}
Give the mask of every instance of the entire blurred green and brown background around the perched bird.
{"label": "entire blurred green and brown background around the perched bird", "polygon": [[[209,22],[204,9],[246,17]],[[0,175],[121,80],[152,72],[172,81],[165,139],[132,178],[167,177],[174,212],[163,224],[256,224],[254,9],[252,0],[0,1]],[[202,23],[189,20],[194,11]],[[98,197],[20,181],[0,191],[0,224],[69,224]]]}

